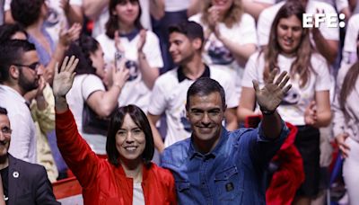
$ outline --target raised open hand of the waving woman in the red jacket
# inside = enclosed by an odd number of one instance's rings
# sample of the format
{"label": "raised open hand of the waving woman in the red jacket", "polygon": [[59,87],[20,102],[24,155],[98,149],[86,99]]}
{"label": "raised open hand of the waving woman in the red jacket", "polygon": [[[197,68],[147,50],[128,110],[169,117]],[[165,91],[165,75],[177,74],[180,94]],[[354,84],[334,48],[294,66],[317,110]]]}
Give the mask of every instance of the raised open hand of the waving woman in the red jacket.
{"label": "raised open hand of the waving woman in the red jacket", "polygon": [[58,63],[55,67],[55,76],[53,82],[53,92],[56,97],[64,97],[71,89],[74,83],[74,68],[77,66],[78,58],[72,56],[70,59],[66,57],[58,72]]}

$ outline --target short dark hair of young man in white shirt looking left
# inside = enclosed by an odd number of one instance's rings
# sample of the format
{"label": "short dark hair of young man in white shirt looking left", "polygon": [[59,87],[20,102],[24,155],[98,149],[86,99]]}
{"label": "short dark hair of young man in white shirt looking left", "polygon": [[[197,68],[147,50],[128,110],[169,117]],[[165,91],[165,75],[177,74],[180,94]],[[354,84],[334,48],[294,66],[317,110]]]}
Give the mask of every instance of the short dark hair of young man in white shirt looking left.
{"label": "short dark hair of young man in white shirt looking left", "polygon": [[170,34],[172,32],[180,32],[186,35],[190,40],[194,40],[198,38],[202,40],[202,44],[205,40],[203,27],[197,22],[185,21],[185,22],[172,24],[169,26],[168,31]]}

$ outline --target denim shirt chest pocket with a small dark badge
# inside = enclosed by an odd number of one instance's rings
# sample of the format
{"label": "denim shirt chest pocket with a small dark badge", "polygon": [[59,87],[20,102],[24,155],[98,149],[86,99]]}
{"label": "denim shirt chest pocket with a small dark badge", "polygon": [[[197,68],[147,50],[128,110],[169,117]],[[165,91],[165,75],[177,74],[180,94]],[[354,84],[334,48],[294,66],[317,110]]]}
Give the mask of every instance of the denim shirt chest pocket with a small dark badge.
{"label": "denim shirt chest pocket with a small dark badge", "polygon": [[232,201],[241,204],[243,177],[235,165],[217,172],[215,174],[215,189],[219,201]]}

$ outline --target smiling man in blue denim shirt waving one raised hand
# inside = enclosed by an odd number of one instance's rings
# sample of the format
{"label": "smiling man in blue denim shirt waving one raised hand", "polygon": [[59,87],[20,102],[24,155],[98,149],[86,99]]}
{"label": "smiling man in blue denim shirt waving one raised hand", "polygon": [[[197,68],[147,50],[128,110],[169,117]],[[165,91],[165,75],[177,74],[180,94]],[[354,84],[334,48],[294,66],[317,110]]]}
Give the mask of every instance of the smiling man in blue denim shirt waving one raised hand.
{"label": "smiling man in blue denim shirt waving one raised hand", "polygon": [[286,85],[285,72],[275,81],[276,73],[274,69],[262,89],[253,82],[263,113],[257,129],[223,128],[224,91],[215,80],[199,78],[189,87],[192,136],[162,154],[162,166],[175,177],[179,204],[266,203],[265,169],[289,133],[276,107],[291,85]]}

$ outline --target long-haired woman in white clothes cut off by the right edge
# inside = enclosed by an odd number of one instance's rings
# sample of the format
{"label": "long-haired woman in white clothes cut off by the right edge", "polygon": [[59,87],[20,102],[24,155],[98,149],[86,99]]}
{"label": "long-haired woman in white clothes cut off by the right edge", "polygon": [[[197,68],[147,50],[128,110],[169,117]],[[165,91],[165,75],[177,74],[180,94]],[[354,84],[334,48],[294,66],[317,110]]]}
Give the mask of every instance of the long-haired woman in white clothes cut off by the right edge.
{"label": "long-haired woman in white clothes cut off by the right edge", "polygon": [[[359,36],[356,40],[359,49]],[[358,56],[358,54],[356,54]],[[333,103],[333,132],[344,160],[343,177],[349,204],[358,204],[357,184],[359,178],[359,58],[352,64],[342,64],[337,75],[337,92]]]}

